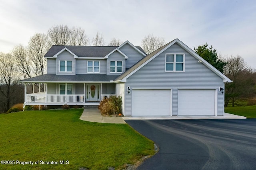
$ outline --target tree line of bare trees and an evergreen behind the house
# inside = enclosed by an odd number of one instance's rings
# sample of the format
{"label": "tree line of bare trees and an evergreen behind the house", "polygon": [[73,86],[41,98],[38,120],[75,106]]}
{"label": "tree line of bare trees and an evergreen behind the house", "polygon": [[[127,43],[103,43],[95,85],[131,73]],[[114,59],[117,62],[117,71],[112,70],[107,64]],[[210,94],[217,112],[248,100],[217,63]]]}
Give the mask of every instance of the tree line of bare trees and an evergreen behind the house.
{"label": "tree line of bare trees and an evergreen behind the house", "polygon": [[[113,37],[108,46],[119,46],[123,43]],[[166,44],[164,37],[153,34],[142,39],[141,47],[146,54]],[[102,33],[90,40],[81,27],[69,28],[67,25],[56,25],[47,33],[35,33],[28,45],[16,45],[10,53],[0,52],[0,113],[6,112],[12,105],[24,102],[24,87],[18,80],[40,76],[46,73],[44,55],[52,45],[105,45]],[[255,96],[255,70],[248,67],[242,57],[230,56],[224,59],[217,55],[216,49],[208,44],[194,48],[194,51],[228,76],[232,83],[226,84],[225,106],[241,97]],[[227,103],[226,103],[227,102]]]}

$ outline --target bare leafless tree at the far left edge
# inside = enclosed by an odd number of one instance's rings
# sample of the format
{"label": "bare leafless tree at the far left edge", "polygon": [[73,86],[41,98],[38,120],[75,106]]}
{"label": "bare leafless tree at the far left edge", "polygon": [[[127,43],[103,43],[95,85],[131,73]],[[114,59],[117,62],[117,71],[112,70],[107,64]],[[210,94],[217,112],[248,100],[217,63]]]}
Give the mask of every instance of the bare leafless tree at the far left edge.
{"label": "bare leafless tree at the far left edge", "polygon": [[14,57],[8,53],[0,53],[0,103],[4,112],[10,108],[12,99],[15,97],[15,85],[18,82]]}

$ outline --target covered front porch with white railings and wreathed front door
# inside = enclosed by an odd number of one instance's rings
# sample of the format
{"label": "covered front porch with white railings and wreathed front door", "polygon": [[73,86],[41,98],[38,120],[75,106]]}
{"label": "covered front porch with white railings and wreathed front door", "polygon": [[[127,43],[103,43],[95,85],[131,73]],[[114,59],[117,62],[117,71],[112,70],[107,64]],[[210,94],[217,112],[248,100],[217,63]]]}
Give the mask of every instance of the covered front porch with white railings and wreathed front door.
{"label": "covered front porch with white railings and wreathed front door", "polygon": [[[31,83],[30,83],[31,85]],[[116,96],[114,83],[32,83],[27,94],[25,83],[24,105],[99,105],[111,96]]]}

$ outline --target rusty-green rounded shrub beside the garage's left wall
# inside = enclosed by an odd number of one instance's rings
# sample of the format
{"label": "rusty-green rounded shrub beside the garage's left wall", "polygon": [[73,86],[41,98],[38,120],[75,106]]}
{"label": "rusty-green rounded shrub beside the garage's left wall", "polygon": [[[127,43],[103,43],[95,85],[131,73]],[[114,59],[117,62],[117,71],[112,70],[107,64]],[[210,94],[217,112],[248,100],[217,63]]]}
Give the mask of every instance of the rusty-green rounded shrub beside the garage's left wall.
{"label": "rusty-green rounded shrub beside the garage's left wall", "polygon": [[121,113],[122,108],[122,97],[112,96],[111,98],[104,99],[100,102],[98,109],[101,114],[113,115]]}

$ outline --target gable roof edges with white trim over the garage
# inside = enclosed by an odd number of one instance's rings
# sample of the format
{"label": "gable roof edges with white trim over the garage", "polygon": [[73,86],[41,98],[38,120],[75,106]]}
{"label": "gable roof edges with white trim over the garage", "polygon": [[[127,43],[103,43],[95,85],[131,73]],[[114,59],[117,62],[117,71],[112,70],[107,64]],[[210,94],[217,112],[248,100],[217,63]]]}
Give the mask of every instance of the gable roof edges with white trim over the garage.
{"label": "gable roof edges with white trim over the garage", "polygon": [[130,77],[132,74],[134,74],[136,71],[138,71],[140,68],[142,68],[144,65],[152,61],[154,58],[156,58],[158,55],[160,55],[163,51],[168,49],[170,46],[172,46],[174,43],[178,43],[184,50],[186,50],[190,55],[198,59],[199,61],[202,61],[202,64],[204,64],[206,67],[208,67],[210,70],[212,70],[215,74],[220,76],[223,79],[223,82],[232,82],[227,76],[222,74],[219,70],[217,70],[214,66],[209,64],[206,60],[204,60],[202,57],[200,57],[196,52],[194,52],[192,49],[190,49],[187,45],[182,43],[179,39],[174,39],[171,42],[167,43],[166,45],[160,47],[156,51],[150,53],[138,63],[134,64],[130,69],[128,69],[126,72],[118,76],[114,81],[118,82],[126,82],[126,79]]}

